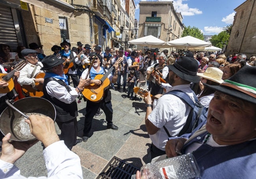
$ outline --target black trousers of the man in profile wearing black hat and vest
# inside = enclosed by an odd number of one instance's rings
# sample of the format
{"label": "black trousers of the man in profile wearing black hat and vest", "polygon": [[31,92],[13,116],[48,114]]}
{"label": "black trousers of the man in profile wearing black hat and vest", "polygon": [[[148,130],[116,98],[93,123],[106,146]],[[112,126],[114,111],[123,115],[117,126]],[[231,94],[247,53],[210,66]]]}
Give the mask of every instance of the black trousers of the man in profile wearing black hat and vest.
{"label": "black trousers of the man in profile wearing black hat and vest", "polygon": [[61,130],[60,140],[64,140],[65,145],[71,150],[73,145],[76,144],[76,137],[78,134],[76,118],[67,122],[56,121],[56,123]]}

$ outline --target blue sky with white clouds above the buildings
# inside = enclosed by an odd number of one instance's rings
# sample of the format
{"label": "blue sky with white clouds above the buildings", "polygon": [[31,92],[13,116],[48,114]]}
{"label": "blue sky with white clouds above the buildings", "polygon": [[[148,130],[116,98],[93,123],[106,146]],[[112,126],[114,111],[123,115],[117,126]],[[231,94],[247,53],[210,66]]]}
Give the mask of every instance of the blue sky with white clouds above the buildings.
{"label": "blue sky with white clouds above the buildings", "polygon": [[[142,0],[152,1],[152,0]],[[156,0],[154,0],[156,1]],[[173,1],[176,12],[181,12],[182,23],[187,26],[195,26],[204,35],[217,35],[233,23],[235,11],[246,0],[158,0]],[[139,2],[135,3],[135,18],[139,19]]]}

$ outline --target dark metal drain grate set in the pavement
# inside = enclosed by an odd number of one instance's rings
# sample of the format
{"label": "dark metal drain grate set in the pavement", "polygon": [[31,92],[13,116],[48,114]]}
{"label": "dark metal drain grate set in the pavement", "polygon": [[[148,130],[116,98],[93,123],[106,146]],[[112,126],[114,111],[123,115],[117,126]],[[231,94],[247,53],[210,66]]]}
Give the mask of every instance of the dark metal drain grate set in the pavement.
{"label": "dark metal drain grate set in the pavement", "polygon": [[139,168],[114,156],[96,179],[130,179]]}

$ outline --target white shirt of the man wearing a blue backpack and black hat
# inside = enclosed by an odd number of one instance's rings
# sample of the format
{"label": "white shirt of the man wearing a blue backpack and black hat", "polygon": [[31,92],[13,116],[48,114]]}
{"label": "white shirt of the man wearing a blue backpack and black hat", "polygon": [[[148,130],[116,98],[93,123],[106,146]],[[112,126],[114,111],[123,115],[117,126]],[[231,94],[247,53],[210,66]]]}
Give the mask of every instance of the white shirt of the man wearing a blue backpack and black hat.
{"label": "white shirt of the man wearing a blue backpack and black hat", "polygon": [[[171,88],[172,90],[181,90],[195,102],[193,91],[188,85],[177,85]],[[168,140],[168,135],[163,129],[165,126],[171,136],[176,136],[184,127],[187,116],[191,109],[180,98],[165,94],[158,100],[154,100],[153,111],[149,114],[148,120],[156,127],[160,128],[154,135],[149,135],[152,143],[159,149],[165,151],[165,144]]]}

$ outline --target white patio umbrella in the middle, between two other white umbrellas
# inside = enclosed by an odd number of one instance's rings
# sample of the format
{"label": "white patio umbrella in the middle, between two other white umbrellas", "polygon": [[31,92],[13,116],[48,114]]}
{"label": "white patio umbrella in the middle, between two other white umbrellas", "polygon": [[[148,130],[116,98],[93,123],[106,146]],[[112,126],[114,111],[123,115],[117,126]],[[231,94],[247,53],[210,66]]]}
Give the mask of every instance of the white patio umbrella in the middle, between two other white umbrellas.
{"label": "white patio umbrella in the middle, between two other white umbrellas", "polygon": [[211,43],[202,41],[200,39],[197,39],[195,37],[186,36],[182,37],[180,39],[175,39],[173,41],[166,42],[167,45],[177,48],[185,48],[187,51],[187,48],[199,48],[199,47],[209,47],[211,46]]}

